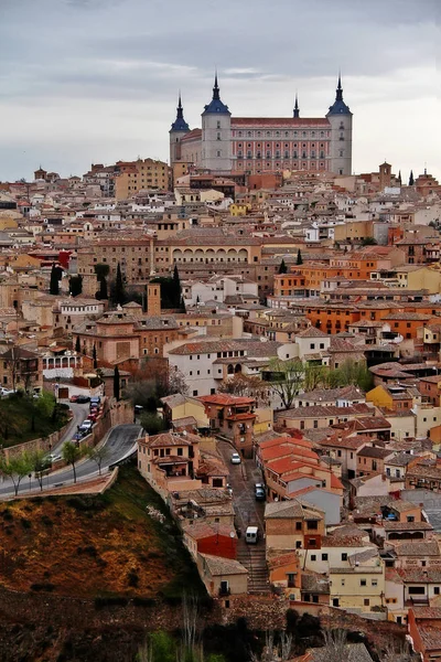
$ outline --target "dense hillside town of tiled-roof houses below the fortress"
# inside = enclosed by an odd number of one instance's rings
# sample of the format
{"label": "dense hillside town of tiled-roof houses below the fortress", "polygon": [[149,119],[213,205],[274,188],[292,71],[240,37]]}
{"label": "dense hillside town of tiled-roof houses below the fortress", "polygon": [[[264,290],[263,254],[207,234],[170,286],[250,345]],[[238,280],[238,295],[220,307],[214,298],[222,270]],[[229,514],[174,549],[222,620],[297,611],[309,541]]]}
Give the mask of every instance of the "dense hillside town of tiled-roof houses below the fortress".
{"label": "dense hillside town of tiled-roof houses below the fortress", "polygon": [[[207,590],[406,622],[432,659],[441,186],[388,163],[196,170],[139,159],[0,183],[0,386],[175,377],[139,470]],[[251,476],[265,490],[252,563],[233,450],[244,491]]]}

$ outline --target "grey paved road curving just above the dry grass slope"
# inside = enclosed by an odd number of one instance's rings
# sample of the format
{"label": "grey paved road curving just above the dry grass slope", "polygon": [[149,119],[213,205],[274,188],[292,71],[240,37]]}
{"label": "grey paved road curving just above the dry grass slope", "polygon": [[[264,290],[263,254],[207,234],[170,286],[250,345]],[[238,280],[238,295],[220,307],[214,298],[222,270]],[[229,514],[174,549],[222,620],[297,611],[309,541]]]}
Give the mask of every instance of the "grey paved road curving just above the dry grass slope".
{"label": "grey paved road curving just above the dry grass slope", "polygon": [[[135,446],[136,438],[140,431],[140,427],[138,425],[118,425],[114,427],[105,442],[106,448],[108,449],[108,457],[105,459],[101,466],[101,473],[108,471],[110,465],[114,465],[118,460],[122,459]],[[85,478],[92,478],[94,476],[98,476],[98,467],[94,460],[82,460],[76,466],[76,477],[77,481],[84,480]],[[64,469],[60,469],[60,471],[55,471],[54,473],[50,473],[43,479],[43,492],[49,487],[69,484],[74,480],[74,472],[72,467],[65,467]],[[40,492],[40,484],[37,480],[31,479],[31,484],[28,478],[24,478],[20,485],[20,493],[30,493],[30,491],[34,491],[34,493]],[[0,499],[8,498],[13,495],[13,485],[12,482],[8,479],[0,482]]]}

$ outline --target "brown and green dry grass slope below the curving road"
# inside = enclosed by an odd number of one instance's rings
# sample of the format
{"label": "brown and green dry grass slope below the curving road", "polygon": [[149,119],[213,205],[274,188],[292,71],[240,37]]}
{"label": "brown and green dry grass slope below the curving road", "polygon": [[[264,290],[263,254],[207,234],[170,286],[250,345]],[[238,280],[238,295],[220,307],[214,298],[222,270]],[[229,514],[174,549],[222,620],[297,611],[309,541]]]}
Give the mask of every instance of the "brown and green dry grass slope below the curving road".
{"label": "brown and green dry grass slope below the curving road", "polygon": [[[151,519],[147,505],[165,514]],[[132,467],[98,496],[0,505],[0,583],[78,597],[203,595],[164,504]]]}

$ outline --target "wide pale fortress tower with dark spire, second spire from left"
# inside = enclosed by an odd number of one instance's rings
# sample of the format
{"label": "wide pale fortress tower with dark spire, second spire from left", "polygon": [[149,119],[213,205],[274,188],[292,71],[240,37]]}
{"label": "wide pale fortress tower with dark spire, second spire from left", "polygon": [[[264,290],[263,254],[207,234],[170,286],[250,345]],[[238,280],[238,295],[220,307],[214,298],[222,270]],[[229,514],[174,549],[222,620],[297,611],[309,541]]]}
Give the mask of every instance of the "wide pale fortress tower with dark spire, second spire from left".
{"label": "wide pale fortress tower with dark spire, second spire from left", "polygon": [[220,100],[216,72],[213,98],[202,114],[202,167],[232,170],[232,114]]}

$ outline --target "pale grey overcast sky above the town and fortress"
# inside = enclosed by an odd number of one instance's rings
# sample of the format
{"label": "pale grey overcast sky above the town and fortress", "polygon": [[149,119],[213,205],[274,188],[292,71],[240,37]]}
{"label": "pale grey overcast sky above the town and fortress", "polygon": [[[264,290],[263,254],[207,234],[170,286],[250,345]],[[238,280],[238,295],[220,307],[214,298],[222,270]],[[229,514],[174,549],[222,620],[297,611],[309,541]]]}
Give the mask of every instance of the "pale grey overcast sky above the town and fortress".
{"label": "pale grey overcast sky above the town and fortress", "polygon": [[[178,89],[237,116],[322,117],[338,67],[353,168],[441,179],[441,0],[0,0],[0,180],[168,159]],[[438,53],[437,53],[438,49]],[[438,60],[438,67],[437,67]]]}

